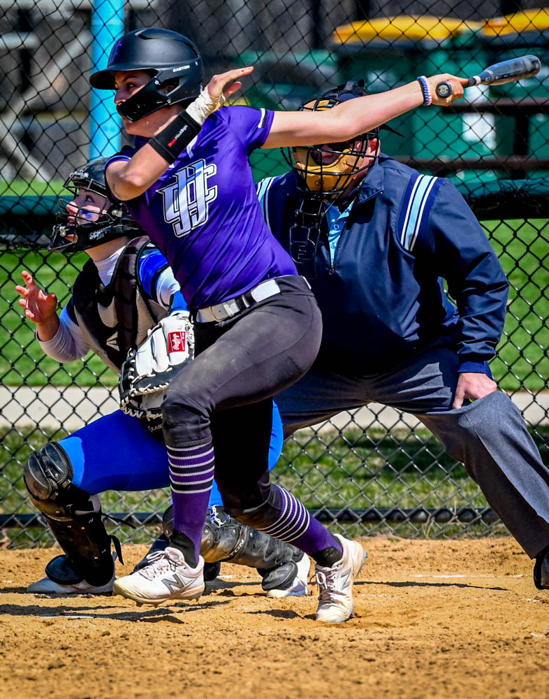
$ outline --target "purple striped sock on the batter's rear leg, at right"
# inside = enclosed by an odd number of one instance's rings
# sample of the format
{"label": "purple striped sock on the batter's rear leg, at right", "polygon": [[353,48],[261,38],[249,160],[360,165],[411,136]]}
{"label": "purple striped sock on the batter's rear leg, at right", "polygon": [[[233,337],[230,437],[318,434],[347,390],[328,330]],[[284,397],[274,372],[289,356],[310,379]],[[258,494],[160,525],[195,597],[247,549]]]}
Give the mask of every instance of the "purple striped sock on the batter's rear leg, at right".
{"label": "purple striped sock on the batter's rear leg, at right", "polygon": [[311,517],[305,505],[302,505],[285,488],[274,484],[272,488],[279,491],[280,514],[272,524],[258,528],[276,539],[291,542],[313,558],[316,553],[329,547],[334,547],[339,552],[342,551],[341,542],[318,519]]}

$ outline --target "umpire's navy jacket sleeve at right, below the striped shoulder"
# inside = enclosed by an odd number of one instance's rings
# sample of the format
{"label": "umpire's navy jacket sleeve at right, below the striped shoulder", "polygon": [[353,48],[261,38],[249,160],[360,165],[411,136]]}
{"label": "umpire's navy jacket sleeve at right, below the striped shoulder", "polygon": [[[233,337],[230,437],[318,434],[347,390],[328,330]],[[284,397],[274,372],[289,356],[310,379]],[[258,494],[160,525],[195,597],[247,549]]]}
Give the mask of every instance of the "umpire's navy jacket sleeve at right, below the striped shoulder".
{"label": "umpire's navy jacket sleeve at right, below the striped shoulder", "polygon": [[457,305],[460,371],[488,373],[485,362],[494,356],[504,330],[509,284],[481,225],[448,180],[418,233],[416,257],[421,250],[432,257]]}

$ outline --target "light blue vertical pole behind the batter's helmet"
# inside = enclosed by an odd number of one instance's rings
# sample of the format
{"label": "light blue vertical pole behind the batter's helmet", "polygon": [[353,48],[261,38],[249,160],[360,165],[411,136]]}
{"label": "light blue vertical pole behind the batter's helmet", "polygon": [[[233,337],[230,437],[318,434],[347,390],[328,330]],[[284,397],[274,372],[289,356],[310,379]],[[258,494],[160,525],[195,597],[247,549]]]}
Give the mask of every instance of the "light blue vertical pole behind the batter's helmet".
{"label": "light blue vertical pole behind the batter's helmet", "polygon": [[[107,64],[115,40],[124,34],[124,0],[94,0],[92,9],[93,71]],[[110,92],[92,89],[89,103],[89,158],[107,157],[119,150],[120,117]]]}

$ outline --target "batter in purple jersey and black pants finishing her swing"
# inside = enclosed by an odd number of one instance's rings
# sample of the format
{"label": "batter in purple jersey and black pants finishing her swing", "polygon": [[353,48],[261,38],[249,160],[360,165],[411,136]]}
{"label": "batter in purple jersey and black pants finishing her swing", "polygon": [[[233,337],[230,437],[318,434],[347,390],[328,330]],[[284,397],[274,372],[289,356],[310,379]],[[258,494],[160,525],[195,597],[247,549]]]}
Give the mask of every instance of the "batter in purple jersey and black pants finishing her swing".
{"label": "batter in purple jersey and black pants finishing her swing", "polygon": [[[173,375],[162,404],[170,545],[151,565],[117,579],[114,591],[153,605],[200,596],[200,539],[215,475],[231,517],[312,556],[316,619],[346,621],[363,548],[330,533],[269,480],[272,396],[312,366],[322,327],[309,283],[263,220],[248,157],[258,147],[351,138],[420,104],[450,100],[432,96],[438,76],[325,113],[222,106],[251,70],[214,76],[201,89],[196,46],[149,28],[119,39],[106,68],[90,78],[92,87],[115,90],[136,140],[107,163],[112,198],[126,203],[168,260],[196,340],[195,359]],[[444,77],[453,97],[462,95],[462,80]]]}

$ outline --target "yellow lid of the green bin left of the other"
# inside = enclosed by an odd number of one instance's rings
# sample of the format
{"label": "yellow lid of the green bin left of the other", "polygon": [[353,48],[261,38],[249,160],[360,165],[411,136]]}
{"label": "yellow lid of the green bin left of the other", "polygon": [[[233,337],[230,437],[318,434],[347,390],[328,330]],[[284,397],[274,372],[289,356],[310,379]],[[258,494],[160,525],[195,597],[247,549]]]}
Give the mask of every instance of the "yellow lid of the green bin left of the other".
{"label": "yellow lid of the green bin left of the other", "polygon": [[337,27],[334,32],[335,43],[365,43],[381,38],[387,41],[395,39],[434,39],[444,41],[450,36],[471,29],[481,29],[483,22],[464,22],[455,17],[433,17],[432,15],[397,15],[396,17],[377,17],[365,22],[353,22]]}

